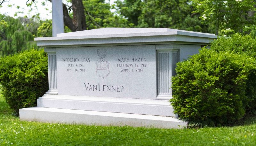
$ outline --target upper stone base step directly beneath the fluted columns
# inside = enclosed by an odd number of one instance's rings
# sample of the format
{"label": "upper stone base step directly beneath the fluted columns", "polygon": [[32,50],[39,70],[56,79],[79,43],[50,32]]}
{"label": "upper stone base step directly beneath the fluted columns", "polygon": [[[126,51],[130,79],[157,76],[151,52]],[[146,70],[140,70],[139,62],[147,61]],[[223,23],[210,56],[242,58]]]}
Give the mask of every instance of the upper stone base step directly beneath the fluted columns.
{"label": "upper stone base step directly beneath the fluted columns", "polygon": [[45,94],[37,107],[178,117],[169,100]]}

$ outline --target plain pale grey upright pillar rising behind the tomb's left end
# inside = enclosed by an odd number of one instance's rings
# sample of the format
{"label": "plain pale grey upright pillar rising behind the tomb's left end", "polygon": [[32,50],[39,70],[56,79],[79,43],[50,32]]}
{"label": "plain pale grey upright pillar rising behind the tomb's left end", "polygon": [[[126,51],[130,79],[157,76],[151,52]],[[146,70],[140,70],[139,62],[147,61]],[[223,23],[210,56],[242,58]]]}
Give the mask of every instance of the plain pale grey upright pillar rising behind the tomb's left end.
{"label": "plain pale grey upright pillar rising behind the tomb's left end", "polygon": [[64,33],[62,0],[52,0],[52,36]]}

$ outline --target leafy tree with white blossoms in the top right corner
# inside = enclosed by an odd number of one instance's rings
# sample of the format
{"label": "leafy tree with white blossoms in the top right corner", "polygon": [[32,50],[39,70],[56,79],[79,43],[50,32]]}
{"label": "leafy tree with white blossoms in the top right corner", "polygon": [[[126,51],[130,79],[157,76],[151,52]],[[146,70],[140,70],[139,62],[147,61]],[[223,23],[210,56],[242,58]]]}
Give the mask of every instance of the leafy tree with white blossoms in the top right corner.
{"label": "leafy tree with white blossoms in the top right corner", "polygon": [[250,32],[255,29],[255,1],[252,0],[192,0],[204,24],[215,29],[215,34]]}

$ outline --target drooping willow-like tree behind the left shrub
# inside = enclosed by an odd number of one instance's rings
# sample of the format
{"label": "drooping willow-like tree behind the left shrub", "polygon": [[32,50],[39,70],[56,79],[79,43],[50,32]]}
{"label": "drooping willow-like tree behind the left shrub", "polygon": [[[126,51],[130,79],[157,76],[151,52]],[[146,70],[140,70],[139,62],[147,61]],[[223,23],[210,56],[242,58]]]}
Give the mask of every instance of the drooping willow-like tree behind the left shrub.
{"label": "drooping willow-like tree behind the left shrub", "polygon": [[[24,18],[14,19],[0,14],[0,56],[37,48],[34,42],[34,24]],[[32,26],[32,27],[29,27]]]}

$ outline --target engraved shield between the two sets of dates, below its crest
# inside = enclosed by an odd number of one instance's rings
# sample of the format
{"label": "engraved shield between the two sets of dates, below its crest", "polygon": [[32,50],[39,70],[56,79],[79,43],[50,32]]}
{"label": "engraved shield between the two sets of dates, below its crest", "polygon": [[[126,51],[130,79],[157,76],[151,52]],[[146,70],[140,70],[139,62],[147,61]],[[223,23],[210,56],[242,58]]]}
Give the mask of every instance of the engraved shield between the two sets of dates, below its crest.
{"label": "engraved shield between the two sets of dates, below its crest", "polygon": [[104,79],[105,77],[107,77],[109,75],[109,62],[96,62],[97,65],[97,69],[96,69],[96,74],[101,77],[102,79]]}

